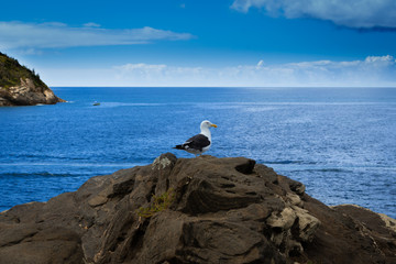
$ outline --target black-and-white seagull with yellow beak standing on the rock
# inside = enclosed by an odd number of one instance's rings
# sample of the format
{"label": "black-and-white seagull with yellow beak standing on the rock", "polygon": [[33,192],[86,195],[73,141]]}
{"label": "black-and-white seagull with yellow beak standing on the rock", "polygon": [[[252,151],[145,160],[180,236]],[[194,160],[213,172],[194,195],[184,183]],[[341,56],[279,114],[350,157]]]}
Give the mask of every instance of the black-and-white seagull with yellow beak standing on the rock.
{"label": "black-and-white seagull with yellow beak standing on the rock", "polygon": [[211,145],[210,128],[217,128],[217,125],[208,120],[204,120],[200,124],[201,132],[199,134],[194,135],[182,145],[176,145],[173,148],[184,150],[196,156],[201,155],[204,152],[208,151]]}

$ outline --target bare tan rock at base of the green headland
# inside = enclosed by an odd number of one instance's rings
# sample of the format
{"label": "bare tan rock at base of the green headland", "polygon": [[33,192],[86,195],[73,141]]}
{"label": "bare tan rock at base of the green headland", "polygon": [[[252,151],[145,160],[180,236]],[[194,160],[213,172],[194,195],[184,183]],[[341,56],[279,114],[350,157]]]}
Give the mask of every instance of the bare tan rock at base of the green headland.
{"label": "bare tan rock at base of the green headland", "polygon": [[21,78],[21,84],[7,89],[0,87],[0,107],[2,106],[35,106],[65,102],[56,97],[46,86],[36,86],[32,79]]}

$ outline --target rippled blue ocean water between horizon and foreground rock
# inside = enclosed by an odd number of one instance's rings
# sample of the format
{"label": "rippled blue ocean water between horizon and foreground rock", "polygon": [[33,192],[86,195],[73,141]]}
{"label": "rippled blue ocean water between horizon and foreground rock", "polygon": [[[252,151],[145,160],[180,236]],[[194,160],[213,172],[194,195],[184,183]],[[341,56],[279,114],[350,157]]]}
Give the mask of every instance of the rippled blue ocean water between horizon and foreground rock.
{"label": "rippled blue ocean water between horizon and foreground rock", "polygon": [[172,147],[208,119],[218,129],[207,154],[254,158],[327,205],[396,218],[396,89],[53,90],[68,102],[0,108],[0,211],[165,152],[194,157]]}

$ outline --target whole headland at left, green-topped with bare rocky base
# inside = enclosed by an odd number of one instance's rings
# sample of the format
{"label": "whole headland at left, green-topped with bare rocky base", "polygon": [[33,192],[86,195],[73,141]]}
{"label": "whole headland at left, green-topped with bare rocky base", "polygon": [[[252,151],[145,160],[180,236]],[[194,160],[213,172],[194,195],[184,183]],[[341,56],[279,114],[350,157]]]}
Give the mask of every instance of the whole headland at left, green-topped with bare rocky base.
{"label": "whole headland at left, green-topped with bare rocky base", "polygon": [[54,105],[64,101],[54,95],[38,75],[21,66],[16,59],[0,53],[0,107]]}

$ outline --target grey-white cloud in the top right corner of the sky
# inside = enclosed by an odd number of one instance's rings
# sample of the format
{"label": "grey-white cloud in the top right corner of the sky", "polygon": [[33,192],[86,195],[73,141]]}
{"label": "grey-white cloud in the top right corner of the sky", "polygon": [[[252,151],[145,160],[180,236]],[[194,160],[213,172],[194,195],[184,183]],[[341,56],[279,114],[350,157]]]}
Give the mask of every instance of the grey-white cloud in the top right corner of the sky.
{"label": "grey-white cloud in the top right corner of the sky", "polygon": [[265,9],[270,15],[329,20],[358,29],[396,28],[395,0],[234,0],[232,8],[242,12]]}

